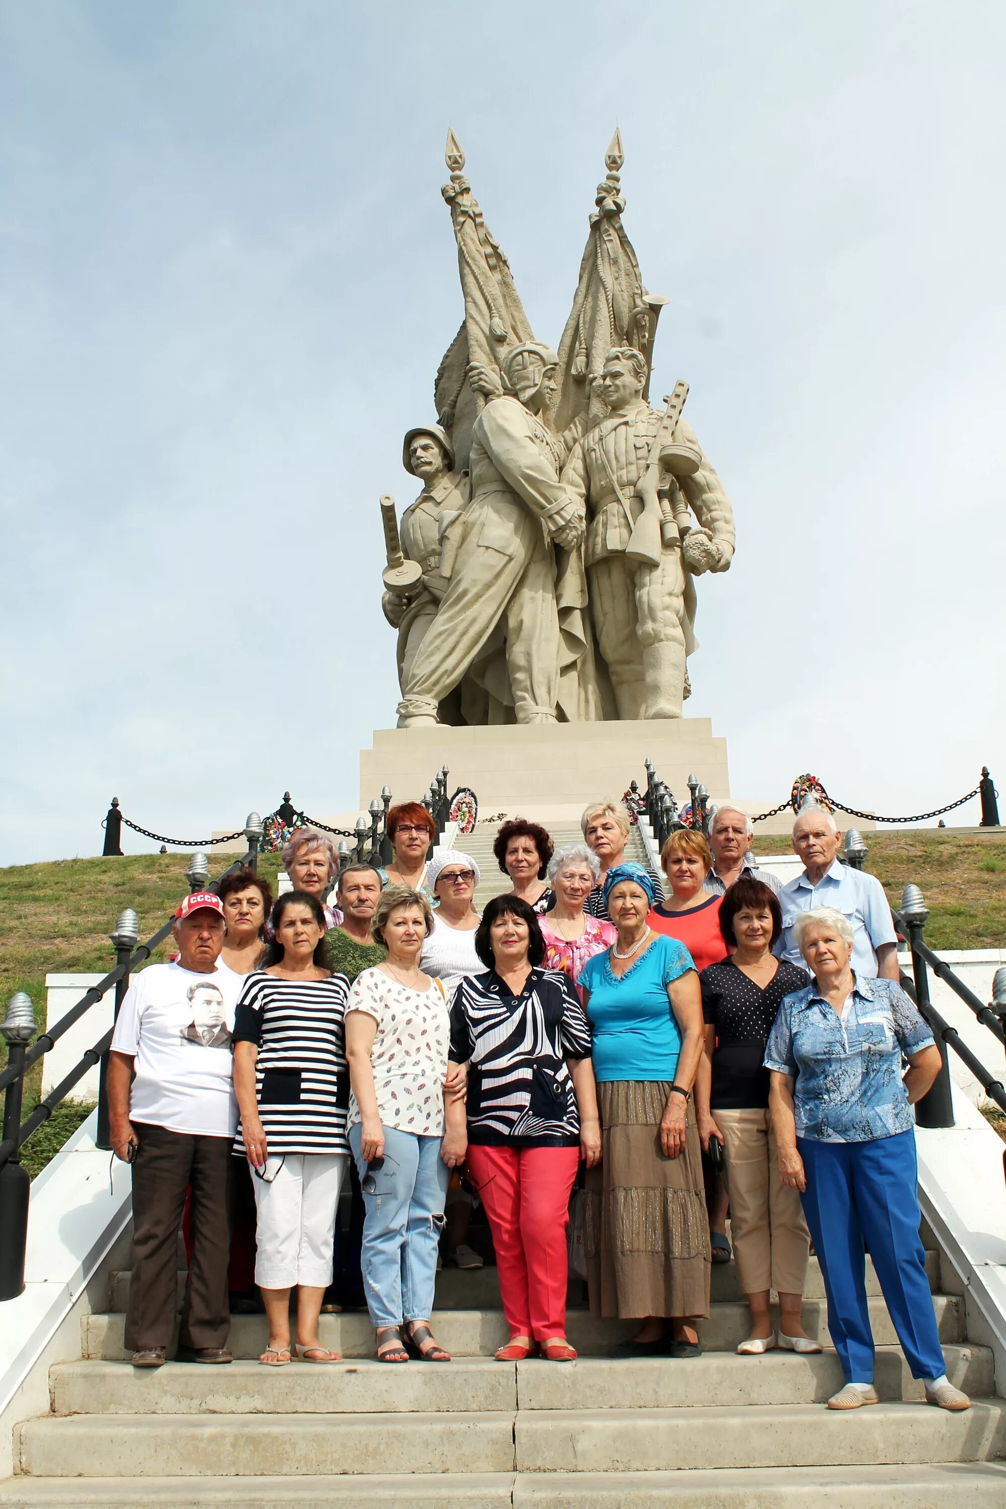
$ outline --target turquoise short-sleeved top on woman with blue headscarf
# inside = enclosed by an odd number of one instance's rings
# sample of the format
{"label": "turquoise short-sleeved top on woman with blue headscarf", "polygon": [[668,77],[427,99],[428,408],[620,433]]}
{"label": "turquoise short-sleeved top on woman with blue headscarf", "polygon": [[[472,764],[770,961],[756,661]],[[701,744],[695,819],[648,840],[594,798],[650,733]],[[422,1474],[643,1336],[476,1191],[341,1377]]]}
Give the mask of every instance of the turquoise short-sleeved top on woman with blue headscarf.
{"label": "turquoise short-sleeved top on woman with blue headscarf", "polygon": [[594,1029],[594,1077],[673,1080],[682,1032],[667,987],[694,969],[677,939],[659,936],[618,979],[608,954],[594,954],[579,984],[590,991],[587,1016]]}

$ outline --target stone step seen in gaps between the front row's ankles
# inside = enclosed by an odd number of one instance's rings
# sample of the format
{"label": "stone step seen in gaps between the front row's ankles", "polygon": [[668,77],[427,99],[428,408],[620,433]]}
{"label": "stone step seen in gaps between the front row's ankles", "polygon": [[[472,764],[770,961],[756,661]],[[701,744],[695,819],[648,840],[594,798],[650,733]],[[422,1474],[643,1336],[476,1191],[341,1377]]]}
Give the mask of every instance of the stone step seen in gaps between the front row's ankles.
{"label": "stone step seen in gaps between the front row's ankles", "polygon": [[[964,1337],[964,1301],[956,1295],[934,1295],[932,1299],[941,1342]],[[882,1299],[869,1299],[870,1325],[878,1346],[897,1342]],[[778,1316],[777,1316],[778,1322]],[[89,1314],[81,1317],[81,1355],[121,1361],[125,1357],[125,1316]],[[733,1352],[751,1329],[748,1307],[741,1302],[712,1307],[709,1320],[698,1322],[698,1334],[706,1349]],[[804,1304],[804,1329],[820,1342],[828,1340],[827,1305],[822,1299]],[[638,1331],[636,1320],[594,1320],[584,1310],[570,1310],[567,1334],[572,1345],[587,1355],[603,1357]],[[321,1316],[320,1331],[326,1346],[345,1357],[371,1357],[374,1331],[362,1311]],[[510,1338],[501,1310],[440,1310],[436,1317],[437,1340],[455,1357],[489,1357]],[[231,1322],[228,1346],[235,1357],[258,1357],[267,1342],[265,1316],[235,1316]]]}

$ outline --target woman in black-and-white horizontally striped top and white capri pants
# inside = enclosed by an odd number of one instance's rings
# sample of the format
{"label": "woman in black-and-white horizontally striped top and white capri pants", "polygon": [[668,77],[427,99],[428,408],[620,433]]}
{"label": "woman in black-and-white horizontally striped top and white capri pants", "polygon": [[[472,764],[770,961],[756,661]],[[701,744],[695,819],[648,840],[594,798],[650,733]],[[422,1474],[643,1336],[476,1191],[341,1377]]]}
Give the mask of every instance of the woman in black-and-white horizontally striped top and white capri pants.
{"label": "woman in black-and-white horizontally striped top and white capri pants", "polygon": [[326,916],[317,896],[288,890],[273,907],[275,942],[244,981],[234,1020],[234,1089],[241,1112],[235,1151],[255,1174],[255,1281],[268,1316],[259,1361],[290,1361],[290,1290],[297,1296],[297,1352],[306,1363],[341,1358],[318,1342],[332,1283],[332,1236],[348,1163],[348,1070],[344,975],[326,967]]}

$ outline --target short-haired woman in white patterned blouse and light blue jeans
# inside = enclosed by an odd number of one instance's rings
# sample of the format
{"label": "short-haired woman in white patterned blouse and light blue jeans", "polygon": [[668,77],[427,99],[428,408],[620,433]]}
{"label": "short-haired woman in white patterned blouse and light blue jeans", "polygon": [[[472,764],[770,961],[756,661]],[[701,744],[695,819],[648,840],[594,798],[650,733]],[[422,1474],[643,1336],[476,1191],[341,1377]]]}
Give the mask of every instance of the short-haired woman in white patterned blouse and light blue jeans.
{"label": "short-haired woman in white patterned blouse and light blue jeans", "polygon": [[[449,1363],[430,1331],[443,1197],[463,1160],[443,1142],[448,1003],[419,969],[433,925],[430,902],[388,886],[371,924],[388,958],[357,975],[345,1007],[350,1147],[363,1191],[363,1286],[377,1360]],[[404,1337],[403,1337],[404,1331]],[[404,1343],[404,1345],[403,1345]]]}

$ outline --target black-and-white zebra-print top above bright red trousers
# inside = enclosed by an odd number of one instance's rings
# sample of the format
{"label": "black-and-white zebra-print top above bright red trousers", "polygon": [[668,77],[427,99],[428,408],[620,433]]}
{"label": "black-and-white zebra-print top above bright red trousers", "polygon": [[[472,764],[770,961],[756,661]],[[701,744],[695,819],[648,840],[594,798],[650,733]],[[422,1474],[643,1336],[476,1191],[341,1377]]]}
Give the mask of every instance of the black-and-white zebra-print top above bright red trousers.
{"label": "black-and-white zebra-print top above bright red trousers", "polygon": [[469,1064],[468,1141],[475,1147],[576,1147],[579,1112],[567,1058],[590,1058],[587,1016],[569,976],[532,969],[519,996],[495,970],[462,979],[451,1059]]}

